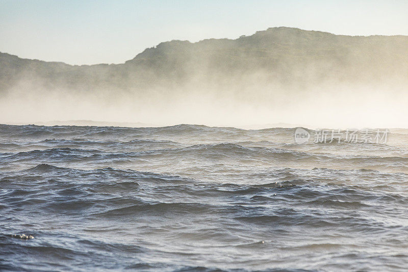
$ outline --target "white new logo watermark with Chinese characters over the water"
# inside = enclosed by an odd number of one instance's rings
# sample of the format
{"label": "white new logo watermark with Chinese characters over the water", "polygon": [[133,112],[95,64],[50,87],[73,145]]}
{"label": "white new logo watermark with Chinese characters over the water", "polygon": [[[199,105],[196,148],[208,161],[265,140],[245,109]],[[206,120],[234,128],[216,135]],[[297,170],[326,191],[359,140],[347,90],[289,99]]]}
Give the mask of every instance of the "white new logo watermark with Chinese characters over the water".
{"label": "white new logo watermark with Chinese characters over the water", "polygon": [[361,143],[386,143],[388,129],[372,130],[316,130],[309,132],[303,128],[295,130],[295,142],[297,144],[307,143],[313,135],[314,143],[331,143],[331,142],[361,142]]}

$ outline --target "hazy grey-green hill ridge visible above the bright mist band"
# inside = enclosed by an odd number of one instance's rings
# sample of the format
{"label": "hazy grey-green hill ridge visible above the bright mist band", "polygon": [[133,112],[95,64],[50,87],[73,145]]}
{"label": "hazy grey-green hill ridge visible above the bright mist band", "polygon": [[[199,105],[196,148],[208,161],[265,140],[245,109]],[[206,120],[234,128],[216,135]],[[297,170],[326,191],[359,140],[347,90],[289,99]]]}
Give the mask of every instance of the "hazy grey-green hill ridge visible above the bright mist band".
{"label": "hazy grey-green hill ridge visible above the bright mist band", "polygon": [[68,65],[0,53],[0,93],[16,88],[78,92],[229,86],[248,77],[280,86],[324,82],[402,82],[408,75],[407,36],[343,36],[270,28],[236,40],[173,40],[123,64]]}

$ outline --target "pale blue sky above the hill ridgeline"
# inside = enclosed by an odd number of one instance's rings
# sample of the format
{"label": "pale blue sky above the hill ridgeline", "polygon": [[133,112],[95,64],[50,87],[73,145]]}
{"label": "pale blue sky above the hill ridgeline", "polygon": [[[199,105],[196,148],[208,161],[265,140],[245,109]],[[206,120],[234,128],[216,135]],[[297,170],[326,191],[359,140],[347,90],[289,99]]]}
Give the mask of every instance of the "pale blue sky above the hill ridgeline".
{"label": "pale blue sky above the hill ridgeline", "polygon": [[0,0],[0,52],[68,64],[123,63],[169,40],[236,39],[270,27],[408,35],[408,1]]}

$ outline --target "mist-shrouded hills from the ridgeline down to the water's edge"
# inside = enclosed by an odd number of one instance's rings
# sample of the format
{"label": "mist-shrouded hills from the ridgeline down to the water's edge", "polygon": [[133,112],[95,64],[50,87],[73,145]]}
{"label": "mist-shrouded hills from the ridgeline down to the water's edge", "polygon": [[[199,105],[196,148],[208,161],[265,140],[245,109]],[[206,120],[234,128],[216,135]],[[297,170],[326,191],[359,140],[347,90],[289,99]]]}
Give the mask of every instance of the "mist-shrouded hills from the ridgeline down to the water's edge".
{"label": "mist-shrouded hills from the ridgeline down to the water's edge", "polygon": [[407,128],[407,41],[273,28],[164,42],[118,65],[12,56],[18,72],[3,85],[0,122]]}

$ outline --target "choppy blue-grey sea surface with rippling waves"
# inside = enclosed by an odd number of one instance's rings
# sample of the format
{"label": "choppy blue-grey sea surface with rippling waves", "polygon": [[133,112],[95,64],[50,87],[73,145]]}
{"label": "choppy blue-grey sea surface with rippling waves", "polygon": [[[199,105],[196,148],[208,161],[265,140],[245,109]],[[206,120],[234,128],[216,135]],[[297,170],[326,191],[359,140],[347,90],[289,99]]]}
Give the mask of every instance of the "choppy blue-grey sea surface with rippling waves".
{"label": "choppy blue-grey sea surface with rippling waves", "polygon": [[408,269],[408,131],[294,130],[0,125],[0,269]]}

